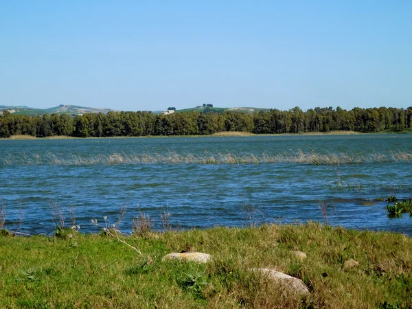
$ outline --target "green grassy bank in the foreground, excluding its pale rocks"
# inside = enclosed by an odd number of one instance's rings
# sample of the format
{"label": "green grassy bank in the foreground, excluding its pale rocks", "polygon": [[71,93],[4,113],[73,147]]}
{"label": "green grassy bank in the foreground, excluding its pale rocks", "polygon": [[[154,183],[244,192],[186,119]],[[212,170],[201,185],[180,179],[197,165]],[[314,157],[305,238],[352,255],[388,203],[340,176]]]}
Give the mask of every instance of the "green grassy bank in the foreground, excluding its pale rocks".
{"label": "green grassy bank in the foreground, excluding its pale rocks", "polygon": [[[308,225],[0,236],[1,308],[411,308],[412,238]],[[299,260],[290,251],[304,251]],[[201,251],[212,262],[162,262]],[[347,260],[358,266],[345,268]],[[299,277],[304,299],[249,268]]]}

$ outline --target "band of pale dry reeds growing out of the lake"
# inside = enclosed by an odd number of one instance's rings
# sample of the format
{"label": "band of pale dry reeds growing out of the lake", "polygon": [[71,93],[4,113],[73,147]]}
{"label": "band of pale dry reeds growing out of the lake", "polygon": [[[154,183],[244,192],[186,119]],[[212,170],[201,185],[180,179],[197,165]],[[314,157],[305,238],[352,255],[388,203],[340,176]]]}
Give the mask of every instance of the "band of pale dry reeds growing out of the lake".
{"label": "band of pale dry reeds growing out of the lake", "polygon": [[110,164],[277,164],[295,163],[310,165],[334,165],[372,163],[372,162],[412,162],[412,153],[405,151],[391,152],[389,155],[374,152],[371,155],[348,154],[345,152],[320,154],[304,152],[301,149],[291,152],[264,152],[262,155],[253,153],[233,152],[207,152],[197,155],[190,152],[180,154],[178,152],[143,153],[136,154],[125,152],[111,155],[62,155],[47,152],[45,155],[38,153],[21,153],[19,156],[7,156],[0,159],[3,165],[110,165]]}

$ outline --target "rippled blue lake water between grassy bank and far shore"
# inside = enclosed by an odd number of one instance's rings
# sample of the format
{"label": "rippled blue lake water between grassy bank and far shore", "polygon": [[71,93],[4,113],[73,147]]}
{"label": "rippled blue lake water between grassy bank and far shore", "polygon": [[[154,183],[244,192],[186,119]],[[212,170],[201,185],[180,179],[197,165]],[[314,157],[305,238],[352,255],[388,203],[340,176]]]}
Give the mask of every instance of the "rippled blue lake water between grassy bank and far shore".
{"label": "rippled blue lake water between grassy bank and far shore", "polygon": [[[412,235],[412,218],[387,202],[411,198],[412,135],[167,137],[0,141],[5,225],[55,231],[50,205],[76,209],[80,231],[114,223],[130,232],[139,210],[161,229],[324,222]],[[408,157],[409,156],[409,157]],[[70,226],[69,214],[66,225]]]}

